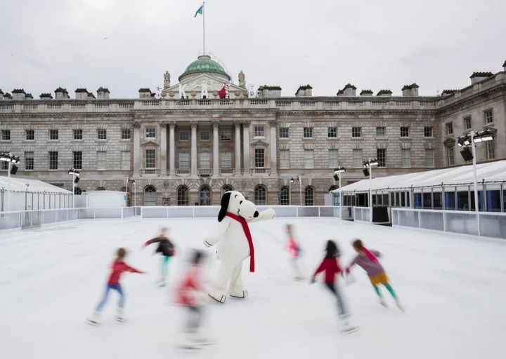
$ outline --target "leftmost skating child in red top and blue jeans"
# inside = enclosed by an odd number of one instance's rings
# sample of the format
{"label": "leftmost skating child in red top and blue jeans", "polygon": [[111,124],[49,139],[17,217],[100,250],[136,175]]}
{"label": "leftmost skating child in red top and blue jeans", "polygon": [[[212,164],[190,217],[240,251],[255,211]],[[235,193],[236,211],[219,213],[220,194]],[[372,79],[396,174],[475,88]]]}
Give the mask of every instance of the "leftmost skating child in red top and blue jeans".
{"label": "leftmost skating child in red top and blue jeans", "polygon": [[124,262],[126,258],[126,250],[124,248],[119,248],[117,250],[117,258],[115,262],[112,263],[112,271],[110,273],[108,283],[105,286],[105,292],[103,294],[102,300],[96,306],[95,311],[91,318],[88,320],[90,324],[99,325],[100,324],[100,314],[102,313],[102,309],[108,301],[110,290],[115,290],[119,294],[119,302],[116,310],[115,318],[120,322],[124,322],[124,292],[121,283],[119,280],[123,272],[131,272],[131,273],[144,273],[143,271],[138,271],[137,269],[132,268],[128,264]]}

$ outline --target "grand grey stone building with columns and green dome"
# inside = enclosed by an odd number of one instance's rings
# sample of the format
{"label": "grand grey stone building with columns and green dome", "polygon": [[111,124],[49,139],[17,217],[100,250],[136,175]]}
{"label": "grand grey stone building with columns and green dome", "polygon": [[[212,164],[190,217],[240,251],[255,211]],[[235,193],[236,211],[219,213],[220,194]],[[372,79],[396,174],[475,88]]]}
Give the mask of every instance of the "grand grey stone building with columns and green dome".
{"label": "grand grey stone building with columns and green dome", "polygon": [[375,177],[461,165],[456,139],[468,130],[496,130],[495,141],[477,147],[479,162],[506,158],[503,66],[429,97],[416,83],[401,96],[356,95],[347,84],[313,97],[306,84],[294,97],[280,86],[260,86],[251,97],[245,74],[235,85],[202,55],[179,83],[166,72],[160,95],[141,88],[138,99],[110,98],[107,88],[78,88],[74,98],[58,88],[40,100],[0,90],[0,151],[20,156],[18,176],[66,189],[70,168],[82,173],[77,191],[124,190],[129,177],[137,205],[219,205],[230,189],[258,204],[323,205],[338,165],[347,169],[343,185],[363,178],[367,158],[380,162]]}

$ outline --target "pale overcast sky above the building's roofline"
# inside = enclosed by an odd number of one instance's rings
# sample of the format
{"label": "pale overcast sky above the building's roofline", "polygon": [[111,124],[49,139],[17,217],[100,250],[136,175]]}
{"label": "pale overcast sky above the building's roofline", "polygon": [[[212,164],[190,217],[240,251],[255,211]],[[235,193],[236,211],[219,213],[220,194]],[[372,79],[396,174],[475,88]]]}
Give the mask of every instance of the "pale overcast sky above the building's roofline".
{"label": "pale overcast sky above the building's roofline", "polygon": [[[58,86],[111,97],[175,84],[202,48],[200,0],[0,0],[0,88],[39,98]],[[208,0],[206,47],[233,80],[292,96],[375,93],[413,82],[420,95],[502,71],[504,0]],[[104,37],[108,39],[103,40]]]}

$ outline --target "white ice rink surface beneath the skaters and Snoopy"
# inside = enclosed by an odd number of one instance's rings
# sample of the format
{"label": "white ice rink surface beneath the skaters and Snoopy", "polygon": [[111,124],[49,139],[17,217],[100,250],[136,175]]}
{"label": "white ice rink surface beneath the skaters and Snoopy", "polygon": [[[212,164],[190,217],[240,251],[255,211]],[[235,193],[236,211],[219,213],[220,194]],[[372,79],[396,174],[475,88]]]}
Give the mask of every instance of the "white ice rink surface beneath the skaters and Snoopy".
{"label": "white ice rink surface beneath the skaters and Snoopy", "polygon": [[[365,273],[342,289],[361,330],[339,332],[335,299],[321,283],[295,282],[285,250],[284,224],[292,223],[310,276],[327,239],[338,241],[346,264],[349,244],[361,238],[382,252],[392,285],[406,312],[378,303]],[[216,344],[188,354],[174,348],[181,309],[171,287],[190,248],[216,219],[82,220],[31,231],[0,233],[0,358],[505,358],[506,245],[436,232],[392,229],[339,219],[274,219],[252,224],[256,273],[244,281],[249,297],[209,302],[207,330]],[[158,227],[171,229],[178,255],[169,264],[169,285],[155,285],[160,258],[142,249]],[[105,307],[103,325],[85,319],[103,294],[115,249],[128,248],[127,263],[148,271],[126,273],[128,323],[113,318],[117,297]],[[212,248],[210,277],[217,267]],[[321,278],[320,278],[321,281]]]}

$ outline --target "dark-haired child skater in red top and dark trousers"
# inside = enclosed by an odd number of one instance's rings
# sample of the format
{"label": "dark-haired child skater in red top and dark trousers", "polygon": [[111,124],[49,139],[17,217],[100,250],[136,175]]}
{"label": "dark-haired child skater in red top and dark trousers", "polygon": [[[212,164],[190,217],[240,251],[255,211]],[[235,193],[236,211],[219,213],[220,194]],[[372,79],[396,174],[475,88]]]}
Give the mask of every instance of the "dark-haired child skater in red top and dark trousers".
{"label": "dark-haired child skater in red top and dark trousers", "polygon": [[342,273],[342,268],[339,264],[339,257],[340,252],[339,248],[337,248],[337,244],[334,241],[327,241],[325,258],[313,274],[311,283],[316,282],[316,276],[318,273],[325,272],[325,287],[327,287],[327,289],[330,290],[337,299],[337,313],[339,314],[339,319],[342,320],[344,325],[343,332],[351,332],[358,329],[358,327],[353,327],[349,324],[349,311],[344,303],[344,298],[341,290],[339,289],[339,285],[336,283],[336,275]]}

